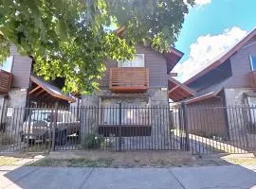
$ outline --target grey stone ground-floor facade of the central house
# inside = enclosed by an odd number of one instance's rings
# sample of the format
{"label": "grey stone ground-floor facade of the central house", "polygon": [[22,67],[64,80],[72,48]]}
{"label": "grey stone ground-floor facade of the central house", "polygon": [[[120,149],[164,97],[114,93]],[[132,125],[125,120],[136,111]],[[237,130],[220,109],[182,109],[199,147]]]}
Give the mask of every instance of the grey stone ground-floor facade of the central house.
{"label": "grey stone ground-floor facade of the central house", "polygon": [[[121,107],[128,108],[128,110],[122,110],[123,117],[121,120],[123,125],[133,125],[133,121],[136,120],[134,125],[150,125],[151,127],[151,134],[149,136],[122,137],[122,149],[150,149],[151,147],[154,149],[162,147],[167,149],[174,146],[174,142],[171,141],[172,137],[169,124],[169,109],[166,90],[149,89],[147,93],[143,94],[114,94],[111,93],[110,90],[101,90],[97,94],[83,95],[81,104],[82,107],[86,107],[82,112],[82,117],[84,117],[82,120],[82,136],[86,135],[88,131],[98,132],[98,126],[102,124],[117,125],[119,121],[119,113],[110,112],[110,116],[117,114],[117,118],[115,120],[112,120],[111,117],[109,117],[109,120],[103,118],[104,121],[102,122],[102,117],[100,117],[101,112],[99,112],[98,107],[116,107],[118,110],[119,104],[121,104]],[[157,108],[157,106],[160,107]],[[135,112],[131,107],[141,107],[141,109]],[[155,109],[146,109],[146,107],[155,107]],[[163,107],[165,108],[163,109]],[[129,108],[131,108],[131,110]],[[128,115],[131,113],[129,111],[133,112],[133,118],[131,118],[131,115],[130,117],[125,116],[125,113]],[[147,118],[143,118],[145,115]],[[113,147],[117,148],[118,137],[114,137],[113,141]]]}

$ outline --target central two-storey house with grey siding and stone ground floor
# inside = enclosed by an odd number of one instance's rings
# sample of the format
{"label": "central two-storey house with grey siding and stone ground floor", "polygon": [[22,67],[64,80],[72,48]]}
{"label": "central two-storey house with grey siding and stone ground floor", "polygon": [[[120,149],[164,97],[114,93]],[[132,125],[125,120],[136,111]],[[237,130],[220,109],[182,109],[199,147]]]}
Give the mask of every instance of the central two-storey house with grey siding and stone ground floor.
{"label": "central two-storey house with grey siding and stone ground floor", "polygon": [[[93,111],[82,113],[85,115],[82,125],[85,129],[89,127],[99,130],[104,136],[119,136],[121,125],[121,136],[133,137],[133,146],[139,144],[142,139],[139,136],[148,137],[144,139],[147,147],[150,147],[156,136],[159,143],[167,144],[170,141],[167,133],[171,132],[168,78],[182,56],[183,53],[174,47],[170,52],[162,54],[151,47],[137,45],[134,60],[106,60],[101,90],[96,94],[82,95],[82,106],[95,107]],[[100,111],[97,107],[100,107]],[[123,145],[131,144],[129,140],[131,138],[125,138]],[[155,143],[155,147],[157,145]]]}

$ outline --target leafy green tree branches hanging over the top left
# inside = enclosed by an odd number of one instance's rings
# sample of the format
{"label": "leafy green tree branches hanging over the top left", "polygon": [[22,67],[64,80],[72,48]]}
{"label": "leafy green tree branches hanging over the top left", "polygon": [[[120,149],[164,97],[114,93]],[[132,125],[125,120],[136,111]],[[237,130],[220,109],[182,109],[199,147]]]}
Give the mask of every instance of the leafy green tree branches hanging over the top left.
{"label": "leafy green tree branches hanging over the top left", "polygon": [[38,76],[64,77],[64,92],[92,93],[104,60],[131,60],[136,43],[168,50],[189,5],[193,0],[0,0],[0,61],[13,43],[33,58]]}

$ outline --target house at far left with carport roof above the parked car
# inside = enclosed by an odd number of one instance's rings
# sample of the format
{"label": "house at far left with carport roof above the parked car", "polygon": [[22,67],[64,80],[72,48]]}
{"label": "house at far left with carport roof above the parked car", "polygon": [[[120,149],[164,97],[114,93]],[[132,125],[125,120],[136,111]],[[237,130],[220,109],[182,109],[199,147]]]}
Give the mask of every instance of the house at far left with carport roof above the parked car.
{"label": "house at far left with carport roof above the parked car", "polygon": [[75,102],[72,96],[33,76],[32,63],[29,57],[21,56],[15,46],[10,47],[9,58],[0,67],[0,130],[8,122],[6,107],[19,109],[20,114],[16,116],[22,123],[25,112],[21,112],[21,107],[52,107],[56,102],[61,105]]}

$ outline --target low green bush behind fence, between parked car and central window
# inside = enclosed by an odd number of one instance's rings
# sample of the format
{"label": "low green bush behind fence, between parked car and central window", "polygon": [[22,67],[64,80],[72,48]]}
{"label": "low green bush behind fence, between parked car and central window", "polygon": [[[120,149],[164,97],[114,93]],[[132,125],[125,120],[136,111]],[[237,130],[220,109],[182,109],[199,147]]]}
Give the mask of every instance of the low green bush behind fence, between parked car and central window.
{"label": "low green bush behind fence, between parked car and central window", "polygon": [[82,142],[82,147],[85,149],[97,149],[104,142],[104,137],[96,133],[87,134]]}

